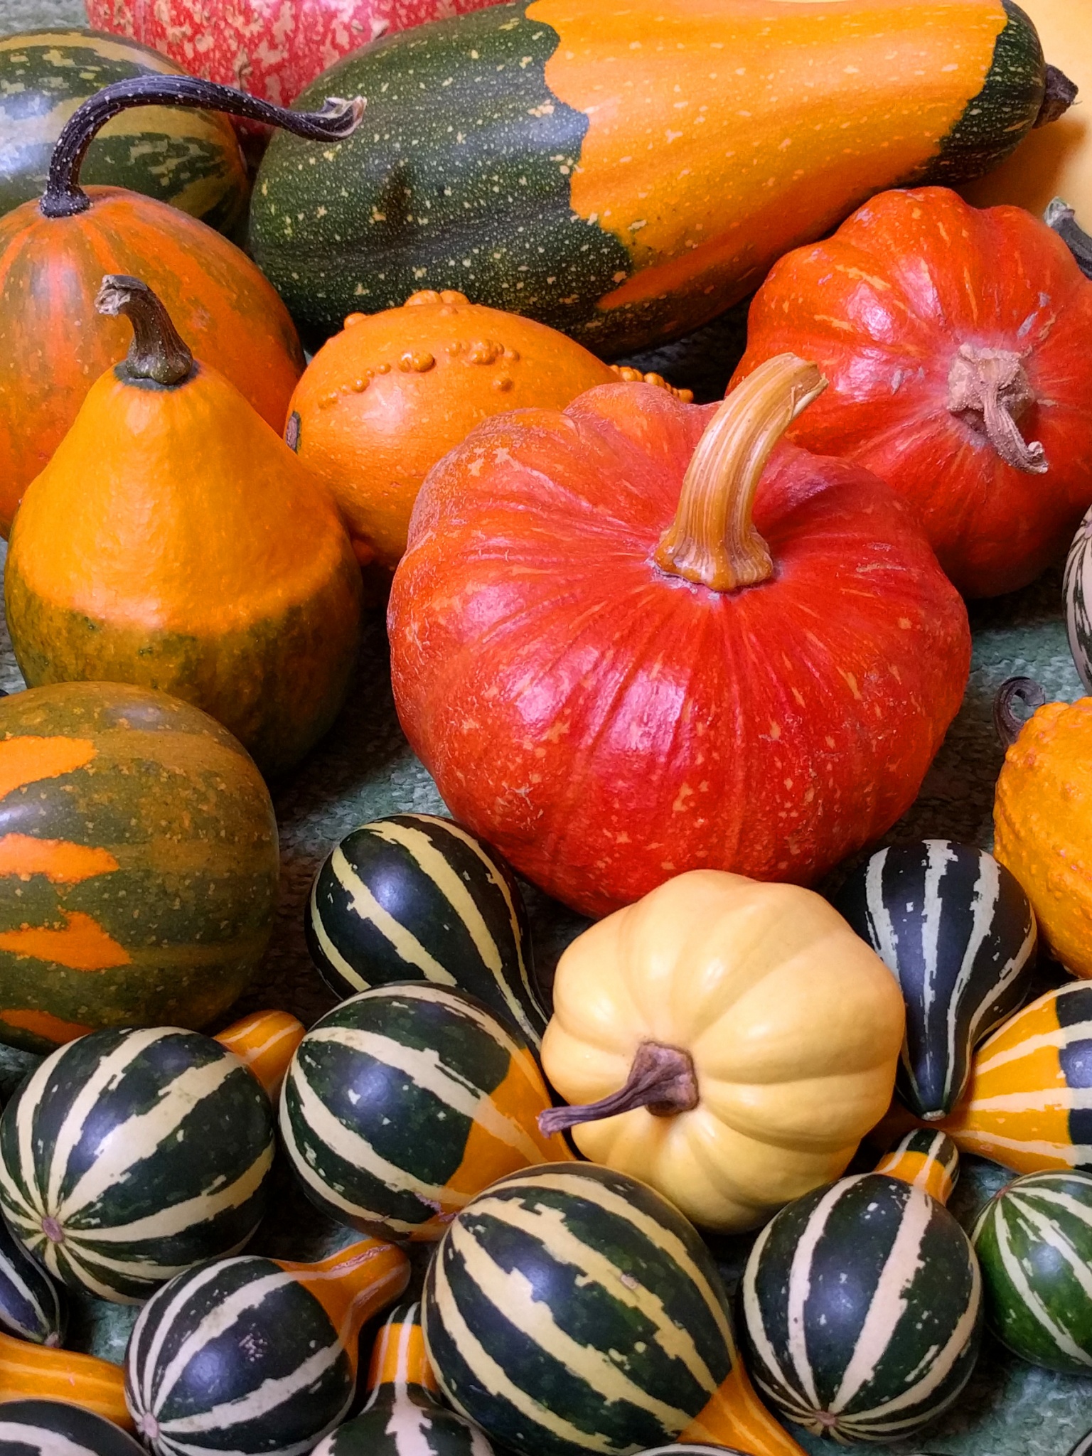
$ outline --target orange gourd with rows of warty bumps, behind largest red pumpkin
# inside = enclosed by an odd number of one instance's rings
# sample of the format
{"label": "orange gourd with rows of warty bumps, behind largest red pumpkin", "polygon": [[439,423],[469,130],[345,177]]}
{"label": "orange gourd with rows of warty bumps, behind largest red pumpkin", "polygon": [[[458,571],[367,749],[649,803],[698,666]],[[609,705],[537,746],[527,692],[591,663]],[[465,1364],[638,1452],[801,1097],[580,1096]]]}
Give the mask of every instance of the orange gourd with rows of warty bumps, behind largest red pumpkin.
{"label": "orange gourd with rows of warty bumps, behind largest red pumpkin", "polygon": [[345,319],[296,387],[285,440],[333,492],[360,561],[389,572],[422,480],[480,419],[563,409],[617,373],[545,323],[425,288]]}

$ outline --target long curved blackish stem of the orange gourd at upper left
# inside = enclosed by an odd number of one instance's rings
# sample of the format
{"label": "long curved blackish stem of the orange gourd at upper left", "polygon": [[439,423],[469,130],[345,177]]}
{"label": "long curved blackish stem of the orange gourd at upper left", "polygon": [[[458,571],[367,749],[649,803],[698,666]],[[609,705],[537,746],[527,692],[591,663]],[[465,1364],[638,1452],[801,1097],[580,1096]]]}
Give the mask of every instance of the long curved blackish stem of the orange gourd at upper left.
{"label": "long curved blackish stem of the orange gourd at upper left", "polygon": [[264,121],[313,141],[341,141],[357,130],[364,115],[363,96],[352,100],[328,96],[320,111],[287,111],[198,76],[134,76],[114,82],[89,96],[64,124],[50,157],[50,176],[38,204],[42,217],[74,217],[87,211],[90,198],[80,188],[80,166],[87,147],[111,116],[130,106],[204,106],[208,111],[226,111],[232,116],[246,116],[249,121]]}

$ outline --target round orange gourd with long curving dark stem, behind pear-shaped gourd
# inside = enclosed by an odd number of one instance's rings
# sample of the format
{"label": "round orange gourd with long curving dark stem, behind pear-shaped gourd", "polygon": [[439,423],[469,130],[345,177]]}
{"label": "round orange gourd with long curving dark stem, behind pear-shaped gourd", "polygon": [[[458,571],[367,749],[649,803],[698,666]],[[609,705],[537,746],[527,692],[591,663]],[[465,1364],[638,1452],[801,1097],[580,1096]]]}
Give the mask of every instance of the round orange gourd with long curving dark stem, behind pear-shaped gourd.
{"label": "round orange gourd with long curving dark stem, behind pear-shaped gourd", "polygon": [[79,186],[99,127],[137,105],[243,111],[344,135],[360,106],[322,116],[281,112],[189,76],[143,76],[105,87],[68,119],[38,202],[0,217],[0,531],[76,419],[83,397],[125,349],[95,296],[105,272],[137,274],[160,294],[186,342],[280,434],[303,370],[288,313],[250,259],[176,207],[116,186]]}

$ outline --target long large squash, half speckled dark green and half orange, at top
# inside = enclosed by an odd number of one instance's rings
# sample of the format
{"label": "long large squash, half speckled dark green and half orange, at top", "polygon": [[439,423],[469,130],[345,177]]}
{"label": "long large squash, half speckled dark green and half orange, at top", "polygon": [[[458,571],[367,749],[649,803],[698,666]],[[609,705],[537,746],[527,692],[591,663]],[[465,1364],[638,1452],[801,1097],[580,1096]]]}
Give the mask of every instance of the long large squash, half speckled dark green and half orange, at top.
{"label": "long large squash, half speckled dark green and half orange, at top", "polygon": [[1056,80],[1010,0],[515,0],[325,71],[298,105],[361,95],[367,125],[274,137],[250,246],[320,336],[459,288],[617,358],[871,194],[984,172]]}

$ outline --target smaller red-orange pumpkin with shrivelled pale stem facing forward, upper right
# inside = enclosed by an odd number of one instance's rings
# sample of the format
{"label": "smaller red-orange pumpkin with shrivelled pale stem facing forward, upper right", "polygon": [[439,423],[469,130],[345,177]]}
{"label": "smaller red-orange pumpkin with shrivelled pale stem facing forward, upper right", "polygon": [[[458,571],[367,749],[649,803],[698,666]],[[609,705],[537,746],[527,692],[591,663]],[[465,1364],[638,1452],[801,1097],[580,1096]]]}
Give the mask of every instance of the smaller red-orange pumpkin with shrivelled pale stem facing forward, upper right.
{"label": "smaller red-orange pumpkin with shrivelled pale stem facing forward, upper right", "polygon": [[968,597],[1032,581],[1092,502],[1092,282],[1045,223],[882,192],[775,265],[735,373],[792,349],[830,389],[789,431],[887,480]]}

